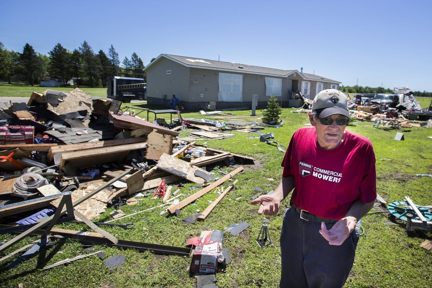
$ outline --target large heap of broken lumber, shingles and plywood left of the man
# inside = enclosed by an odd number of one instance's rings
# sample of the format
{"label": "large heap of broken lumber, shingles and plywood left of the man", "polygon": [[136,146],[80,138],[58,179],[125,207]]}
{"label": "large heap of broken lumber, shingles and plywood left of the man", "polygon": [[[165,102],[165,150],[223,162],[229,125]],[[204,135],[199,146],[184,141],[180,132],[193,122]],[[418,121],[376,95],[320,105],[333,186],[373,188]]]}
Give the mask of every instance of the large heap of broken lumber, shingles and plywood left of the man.
{"label": "large heap of broken lumber, shingles and plywood left of the man", "polygon": [[[146,117],[143,112],[147,112]],[[148,119],[149,112],[155,113],[155,122],[145,119]],[[213,128],[258,133],[263,127],[232,119],[222,122],[186,121],[180,112],[177,120],[169,124],[159,121],[163,123],[159,125],[156,121],[159,120],[156,119],[158,112],[121,107],[121,102],[112,99],[92,99],[79,89],[69,93],[56,90],[46,90],[43,94],[34,92],[28,103],[14,103],[0,110],[3,125],[0,127],[0,221],[10,224],[18,219],[15,222],[18,225],[0,226],[2,233],[25,231],[0,246],[0,252],[46,227],[46,234],[33,243],[32,253],[48,242],[46,236],[51,231],[84,242],[192,255],[191,247],[125,243],[99,226],[131,229],[135,224],[111,222],[163,206],[167,208],[161,214],[180,214],[182,208],[225,183],[227,188],[193,219],[193,222],[204,221],[237,183],[233,178],[243,170],[240,165],[253,163],[254,159],[211,149],[197,144],[197,140],[233,135],[216,132]],[[214,115],[231,116],[228,113]],[[198,131],[191,132],[190,139],[176,138],[179,135],[177,130],[186,127]],[[217,163],[237,168],[219,178],[207,171]],[[176,183],[179,187],[184,182],[195,183],[197,192],[187,197],[178,193],[180,189],[173,191],[175,186],[170,185]],[[158,201],[162,204],[132,214],[125,214],[120,209],[122,205],[139,201],[133,196],[151,195],[160,199]],[[104,213],[108,206],[115,208],[110,214],[112,220],[91,221]],[[33,213],[35,210],[38,212]],[[28,214],[32,215],[25,217]],[[65,221],[86,224],[95,232],[83,235],[79,231],[54,227]],[[219,242],[221,244],[222,239]],[[223,259],[221,251],[217,253],[219,260]],[[44,269],[93,254],[66,259]],[[108,260],[105,261],[107,266]],[[110,269],[115,266],[112,267]]]}

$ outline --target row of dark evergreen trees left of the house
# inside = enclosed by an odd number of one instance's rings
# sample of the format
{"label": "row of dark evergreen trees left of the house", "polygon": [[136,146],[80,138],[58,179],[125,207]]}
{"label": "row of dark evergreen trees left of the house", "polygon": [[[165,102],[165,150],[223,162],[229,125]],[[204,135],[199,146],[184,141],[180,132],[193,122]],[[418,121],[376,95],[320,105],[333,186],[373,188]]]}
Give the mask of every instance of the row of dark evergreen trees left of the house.
{"label": "row of dark evergreen trees left of the house", "polygon": [[47,56],[36,53],[29,43],[19,53],[6,50],[0,42],[0,80],[8,83],[25,82],[33,86],[51,77],[61,79],[64,86],[74,79],[78,86],[106,87],[108,76],[144,78],[145,82],[143,68],[143,61],[135,52],[120,64],[112,45],[105,54],[103,50],[95,53],[86,41],[73,51],[57,43]]}

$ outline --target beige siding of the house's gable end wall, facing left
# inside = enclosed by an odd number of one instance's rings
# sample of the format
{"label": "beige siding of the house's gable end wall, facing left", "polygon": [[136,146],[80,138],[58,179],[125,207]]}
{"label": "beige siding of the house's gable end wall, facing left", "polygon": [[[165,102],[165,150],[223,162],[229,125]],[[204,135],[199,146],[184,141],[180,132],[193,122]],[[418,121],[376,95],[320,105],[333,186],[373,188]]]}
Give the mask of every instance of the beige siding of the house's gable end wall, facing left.
{"label": "beige siding of the house's gable end wall, facing left", "polygon": [[[166,58],[161,58],[158,62],[146,72],[147,102],[169,107],[168,103],[173,94],[180,99],[180,102],[188,102],[190,68]],[[166,74],[167,70],[171,70],[171,74]],[[164,94],[165,101],[162,98]]]}

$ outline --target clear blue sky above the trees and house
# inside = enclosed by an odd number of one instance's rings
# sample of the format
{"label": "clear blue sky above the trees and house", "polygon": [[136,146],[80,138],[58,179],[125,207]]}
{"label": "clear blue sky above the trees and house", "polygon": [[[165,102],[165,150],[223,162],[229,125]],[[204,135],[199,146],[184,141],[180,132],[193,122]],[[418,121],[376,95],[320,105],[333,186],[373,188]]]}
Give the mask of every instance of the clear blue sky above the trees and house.
{"label": "clear blue sky above the trees and house", "polygon": [[432,92],[432,1],[2,0],[0,42],[48,55],[87,41],[149,64],[160,54],[297,69],[345,86]]}

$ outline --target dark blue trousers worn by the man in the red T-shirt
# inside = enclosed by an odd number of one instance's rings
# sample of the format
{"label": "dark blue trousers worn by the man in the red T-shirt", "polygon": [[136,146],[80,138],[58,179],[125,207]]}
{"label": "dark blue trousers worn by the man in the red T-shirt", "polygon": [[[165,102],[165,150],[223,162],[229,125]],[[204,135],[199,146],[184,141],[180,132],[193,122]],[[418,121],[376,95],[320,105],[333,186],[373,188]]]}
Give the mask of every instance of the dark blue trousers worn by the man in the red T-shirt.
{"label": "dark blue trousers worn by the man in the red T-shirt", "polygon": [[[327,229],[334,224],[326,224]],[[305,221],[295,209],[283,217],[280,235],[281,288],[342,287],[353,267],[359,231],[340,246],[330,245],[318,232],[321,222]]]}

